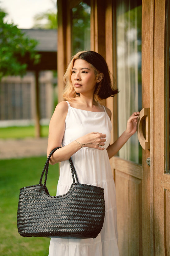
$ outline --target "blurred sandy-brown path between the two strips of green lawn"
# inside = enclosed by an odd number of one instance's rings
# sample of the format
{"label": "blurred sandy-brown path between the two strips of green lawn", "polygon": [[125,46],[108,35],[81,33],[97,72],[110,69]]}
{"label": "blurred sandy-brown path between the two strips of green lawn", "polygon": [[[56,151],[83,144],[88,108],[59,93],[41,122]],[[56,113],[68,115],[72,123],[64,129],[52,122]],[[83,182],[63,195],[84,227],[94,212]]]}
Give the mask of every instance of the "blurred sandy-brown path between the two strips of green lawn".
{"label": "blurred sandy-brown path between the two strips of green lawn", "polygon": [[0,159],[47,156],[48,138],[0,139]]}

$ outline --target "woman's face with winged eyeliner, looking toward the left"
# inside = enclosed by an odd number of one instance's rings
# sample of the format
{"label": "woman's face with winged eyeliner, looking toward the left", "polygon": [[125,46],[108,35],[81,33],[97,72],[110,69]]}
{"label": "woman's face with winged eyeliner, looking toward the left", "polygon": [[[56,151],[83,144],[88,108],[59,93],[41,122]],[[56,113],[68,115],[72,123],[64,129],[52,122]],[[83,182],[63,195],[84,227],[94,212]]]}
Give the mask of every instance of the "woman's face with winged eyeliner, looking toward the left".
{"label": "woman's face with winged eyeliner, looking toward the left", "polygon": [[91,64],[85,60],[74,61],[71,74],[71,82],[75,92],[86,95],[93,95],[98,76],[95,75]]}

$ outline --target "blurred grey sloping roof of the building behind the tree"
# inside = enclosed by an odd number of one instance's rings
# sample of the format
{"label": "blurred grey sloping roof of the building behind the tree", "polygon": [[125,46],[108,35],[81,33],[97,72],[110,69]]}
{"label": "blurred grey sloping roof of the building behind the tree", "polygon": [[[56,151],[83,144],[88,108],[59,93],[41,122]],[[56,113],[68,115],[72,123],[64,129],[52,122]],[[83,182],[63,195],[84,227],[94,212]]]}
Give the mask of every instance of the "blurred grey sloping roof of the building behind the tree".
{"label": "blurred grey sloping roof of the building behind the tree", "polygon": [[21,29],[28,37],[37,40],[38,52],[57,52],[57,29]]}

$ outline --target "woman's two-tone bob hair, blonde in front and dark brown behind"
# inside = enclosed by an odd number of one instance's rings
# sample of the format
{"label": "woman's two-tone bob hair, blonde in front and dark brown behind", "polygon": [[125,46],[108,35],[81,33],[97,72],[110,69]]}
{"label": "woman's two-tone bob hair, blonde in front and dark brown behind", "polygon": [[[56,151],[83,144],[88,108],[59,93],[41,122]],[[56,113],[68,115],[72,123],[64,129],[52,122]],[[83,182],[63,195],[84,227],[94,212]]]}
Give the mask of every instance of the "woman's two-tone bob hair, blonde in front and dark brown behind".
{"label": "woman's two-tone bob hair, blonde in front and dark brown behind", "polygon": [[66,83],[66,87],[63,92],[63,97],[66,100],[72,100],[76,96],[79,96],[74,90],[74,87],[71,82],[71,74],[72,74],[72,69],[74,66],[74,62],[77,59],[82,59],[87,61],[88,63],[91,64],[91,66],[94,68],[95,74],[103,73],[104,77],[103,79],[99,82],[96,83],[96,88],[94,91],[94,100],[95,101],[100,101],[101,99],[106,99],[110,96],[114,96],[115,94],[118,93],[118,89],[114,89],[112,86],[112,81],[110,78],[110,73],[108,70],[108,65],[104,58],[97,52],[93,51],[83,51],[83,52],[78,52],[76,53],[66,70],[66,73],[63,77],[64,82]]}

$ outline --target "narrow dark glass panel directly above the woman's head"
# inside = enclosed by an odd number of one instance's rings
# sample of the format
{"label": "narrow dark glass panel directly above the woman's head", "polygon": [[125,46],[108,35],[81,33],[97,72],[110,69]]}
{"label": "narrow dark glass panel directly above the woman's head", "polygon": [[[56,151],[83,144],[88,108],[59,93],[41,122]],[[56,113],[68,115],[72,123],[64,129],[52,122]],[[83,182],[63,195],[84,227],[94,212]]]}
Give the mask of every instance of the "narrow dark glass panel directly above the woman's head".
{"label": "narrow dark glass panel directly above the woman's head", "polygon": [[90,1],[72,8],[72,52],[90,50]]}

